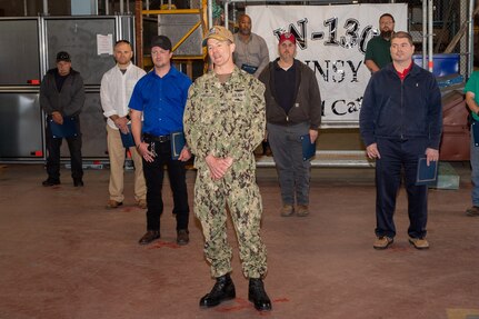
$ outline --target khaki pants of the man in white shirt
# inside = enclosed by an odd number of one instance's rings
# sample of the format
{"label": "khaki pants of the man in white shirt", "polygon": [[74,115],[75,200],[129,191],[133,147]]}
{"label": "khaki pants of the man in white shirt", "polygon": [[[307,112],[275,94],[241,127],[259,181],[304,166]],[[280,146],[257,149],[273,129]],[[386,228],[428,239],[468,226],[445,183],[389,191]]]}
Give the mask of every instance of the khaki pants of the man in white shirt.
{"label": "khaki pants of the man in white shirt", "polygon": [[[123,196],[123,165],[126,151],[121,142],[120,130],[114,130],[107,124],[107,143],[110,157],[110,199],[122,202]],[[130,148],[131,158],[134,163],[134,199],[146,199],[147,186],[143,177],[141,156],[134,147]]]}

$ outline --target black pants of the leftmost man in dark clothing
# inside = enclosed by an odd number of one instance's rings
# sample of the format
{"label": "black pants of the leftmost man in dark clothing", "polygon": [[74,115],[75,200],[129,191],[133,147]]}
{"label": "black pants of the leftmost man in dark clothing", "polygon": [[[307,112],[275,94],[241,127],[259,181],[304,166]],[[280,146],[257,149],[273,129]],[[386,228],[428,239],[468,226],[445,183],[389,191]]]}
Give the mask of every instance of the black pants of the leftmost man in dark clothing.
{"label": "black pants of the leftmost man in dark clothing", "polygon": [[[50,129],[50,119],[47,118],[47,173],[51,180],[60,180],[60,147],[62,138],[53,138]],[[66,138],[68,149],[70,150],[70,162],[71,162],[71,177],[73,180],[80,180],[83,178],[83,168],[81,159],[81,131],[80,131],[80,119],[76,117],[77,136]]]}

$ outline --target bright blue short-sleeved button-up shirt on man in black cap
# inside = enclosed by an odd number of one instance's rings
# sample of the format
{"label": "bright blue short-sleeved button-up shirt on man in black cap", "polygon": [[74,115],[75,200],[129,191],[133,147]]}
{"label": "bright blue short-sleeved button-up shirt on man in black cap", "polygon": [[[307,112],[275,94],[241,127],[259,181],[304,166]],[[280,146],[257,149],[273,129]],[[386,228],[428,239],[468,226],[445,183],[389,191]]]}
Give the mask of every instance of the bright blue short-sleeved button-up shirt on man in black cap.
{"label": "bright blue short-sleeved button-up shirt on man in black cap", "polygon": [[143,112],[143,133],[166,136],[183,130],[183,112],[191,80],[173,66],[160,78],[154,70],[134,86],[129,108]]}

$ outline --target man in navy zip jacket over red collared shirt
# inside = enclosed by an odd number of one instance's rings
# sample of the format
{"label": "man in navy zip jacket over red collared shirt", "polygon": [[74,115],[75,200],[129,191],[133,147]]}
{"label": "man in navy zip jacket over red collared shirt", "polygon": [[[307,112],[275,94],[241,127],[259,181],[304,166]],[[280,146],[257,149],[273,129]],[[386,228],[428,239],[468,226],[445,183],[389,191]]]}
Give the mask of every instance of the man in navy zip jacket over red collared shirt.
{"label": "man in navy zip jacket over red collared shirt", "polygon": [[391,38],[392,63],[372,74],[366,88],[359,124],[369,158],[376,159],[376,249],[392,243],[396,197],[405,170],[409,242],[427,249],[427,186],[416,186],[418,159],[439,159],[442,130],[441,96],[435,77],[412,62],[412,38]]}

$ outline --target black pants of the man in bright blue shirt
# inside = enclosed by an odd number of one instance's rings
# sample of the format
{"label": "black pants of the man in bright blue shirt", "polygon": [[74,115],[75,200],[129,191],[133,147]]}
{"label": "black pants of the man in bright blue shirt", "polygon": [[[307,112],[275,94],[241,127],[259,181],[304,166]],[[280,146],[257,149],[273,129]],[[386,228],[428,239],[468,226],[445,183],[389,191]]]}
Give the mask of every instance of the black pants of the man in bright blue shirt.
{"label": "black pants of the man in bright blue shirt", "polygon": [[143,159],[143,173],[147,182],[147,230],[160,230],[160,216],[163,212],[161,188],[163,186],[164,166],[167,166],[171,191],[173,192],[173,211],[177,218],[177,230],[188,229],[190,209],[184,162],[171,159],[170,141],[159,142],[144,138],[154,150],[154,161]]}

